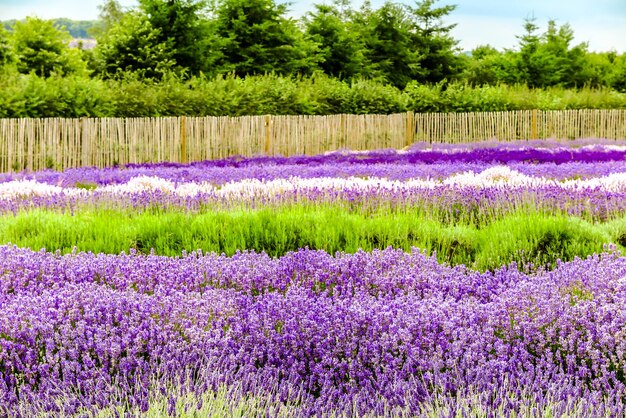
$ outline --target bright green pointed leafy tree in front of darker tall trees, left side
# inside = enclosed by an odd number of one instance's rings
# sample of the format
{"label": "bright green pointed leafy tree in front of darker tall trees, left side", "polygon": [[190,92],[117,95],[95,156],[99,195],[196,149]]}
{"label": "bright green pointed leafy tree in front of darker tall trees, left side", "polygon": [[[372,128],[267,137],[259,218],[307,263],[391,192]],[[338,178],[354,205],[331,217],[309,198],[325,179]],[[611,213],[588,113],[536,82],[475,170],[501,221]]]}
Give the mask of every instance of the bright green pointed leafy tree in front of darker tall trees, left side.
{"label": "bright green pointed leafy tree in front of darker tall trees, left side", "polygon": [[100,39],[95,51],[98,72],[104,77],[119,73],[161,79],[176,62],[169,45],[159,42],[160,31],[153,28],[145,14],[130,11]]}

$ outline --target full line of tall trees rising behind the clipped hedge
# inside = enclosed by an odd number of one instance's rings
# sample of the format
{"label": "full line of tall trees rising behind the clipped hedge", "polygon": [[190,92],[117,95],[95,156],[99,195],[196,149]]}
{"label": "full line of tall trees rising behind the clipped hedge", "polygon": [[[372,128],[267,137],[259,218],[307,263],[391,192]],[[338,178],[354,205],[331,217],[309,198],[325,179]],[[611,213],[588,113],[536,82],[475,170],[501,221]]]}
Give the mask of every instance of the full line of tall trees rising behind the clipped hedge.
{"label": "full line of tall trees rising behind the clipped hedge", "polygon": [[[277,0],[140,0],[125,9],[117,0],[105,0],[95,23],[3,22],[10,35],[0,32],[0,66],[15,64],[21,73],[48,77],[84,72],[86,62],[95,76],[132,74],[151,80],[148,84],[170,73],[188,79],[270,73],[299,77],[321,71],[342,81],[374,80],[399,89],[419,83],[443,86],[443,91],[460,82],[626,92],[626,55],[592,53],[585,43],[574,45],[567,23],[551,20],[542,31],[527,19],[516,49],[482,45],[469,54],[458,50],[451,36],[454,24],[444,23],[455,6],[437,6],[437,0],[413,5],[390,0],[377,8],[365,1],[358,10],[347,0],[334,0],[314,4],[299,22],[288,17],[287,7]],[[68,48],[66,30],[73,36],[95,36],[95,52]],[[444,102],[425,107],[467,107]]]}

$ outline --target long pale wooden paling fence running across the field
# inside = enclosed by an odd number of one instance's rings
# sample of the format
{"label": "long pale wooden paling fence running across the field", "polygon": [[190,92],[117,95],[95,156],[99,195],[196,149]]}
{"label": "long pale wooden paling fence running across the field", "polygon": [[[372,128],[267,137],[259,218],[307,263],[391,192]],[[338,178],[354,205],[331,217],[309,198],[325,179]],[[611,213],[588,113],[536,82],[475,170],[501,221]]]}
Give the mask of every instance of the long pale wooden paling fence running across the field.
{"label": "long pale wooden paling fence running across the field", "polygon": [[626,110],[0,119],[0,172],[548,138],[626,139]]}

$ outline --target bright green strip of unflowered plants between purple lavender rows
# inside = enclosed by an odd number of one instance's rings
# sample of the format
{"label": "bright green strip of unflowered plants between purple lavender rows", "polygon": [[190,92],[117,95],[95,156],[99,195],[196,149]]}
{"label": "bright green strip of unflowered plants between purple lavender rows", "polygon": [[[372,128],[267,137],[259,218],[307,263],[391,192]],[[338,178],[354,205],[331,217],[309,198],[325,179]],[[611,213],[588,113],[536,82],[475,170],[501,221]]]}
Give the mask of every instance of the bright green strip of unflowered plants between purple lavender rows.
{"label": "bright green strip of unflowered plants between purple lavender rows", "polygon": [[329,253],[417,247],[451,265],[484,271],[516,262],[532,270],[601,252],[609,243],[623,250],[626,216],[591,223],[564,214],[518,211],[480,222],[446,222],[410,211],[360,214],[306,206],[196,214],[93,209],[71,215],[35,209],[0,217],[0,243],[62,253],[135,249],[167,256],[198,249],[281,256],[304,247]]}

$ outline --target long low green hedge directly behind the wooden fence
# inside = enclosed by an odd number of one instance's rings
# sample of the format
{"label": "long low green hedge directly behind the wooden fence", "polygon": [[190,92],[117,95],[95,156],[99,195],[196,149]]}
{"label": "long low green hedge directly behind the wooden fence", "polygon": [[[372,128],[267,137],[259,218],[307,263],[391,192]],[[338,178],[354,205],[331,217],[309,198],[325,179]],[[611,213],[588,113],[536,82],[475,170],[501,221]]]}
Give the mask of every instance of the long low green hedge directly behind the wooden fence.
{"label": "long low green hedge directly behind the wooden fence", "polygon": [[608,88],[411,82],[404,91],[391,85],[355,79],[340,81],[323,74],[283,77],[276,74],[188,79],[164,72],[158,81],[138,73],[107,80],[83,76],[0,73],[0,117],[153,117],[390,114],[508,110],[626,109],[626,93]]}

